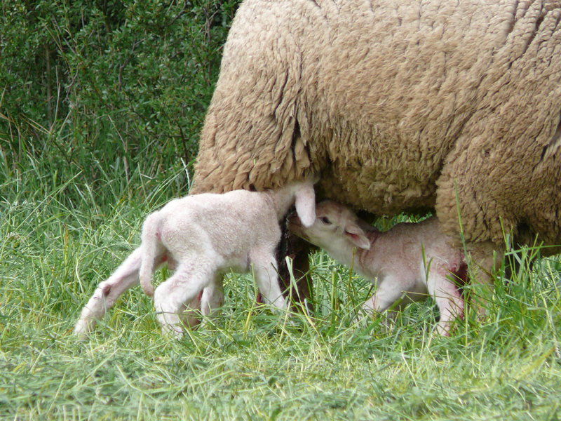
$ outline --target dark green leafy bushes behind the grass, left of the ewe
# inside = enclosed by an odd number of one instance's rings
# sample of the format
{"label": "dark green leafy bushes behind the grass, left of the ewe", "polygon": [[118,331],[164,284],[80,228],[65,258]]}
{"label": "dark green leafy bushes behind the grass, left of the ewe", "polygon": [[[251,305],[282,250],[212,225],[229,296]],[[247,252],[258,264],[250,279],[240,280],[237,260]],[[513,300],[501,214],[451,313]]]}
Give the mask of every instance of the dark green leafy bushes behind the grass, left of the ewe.
{"label": "dark green leafy bushes behind the grass, left of the ewe", "polygon": [[[8,0],[0,16],[0,177],[130,182],[191,162],[238,0]],[[185,186],[183,186],[185,189]]]}

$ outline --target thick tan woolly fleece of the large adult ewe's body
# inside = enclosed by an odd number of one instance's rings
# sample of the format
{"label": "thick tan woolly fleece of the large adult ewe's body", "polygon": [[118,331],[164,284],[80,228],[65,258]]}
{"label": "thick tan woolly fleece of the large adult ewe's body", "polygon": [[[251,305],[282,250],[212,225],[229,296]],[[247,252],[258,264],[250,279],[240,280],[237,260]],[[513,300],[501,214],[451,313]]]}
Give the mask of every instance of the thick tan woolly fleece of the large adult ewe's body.
{"label": "thick tan woolly fleece of the large adult ewe's body", "polygon": [[355,209],[560,244],[560,20],[561,1],[246,0],[194,192],[320,171]]}

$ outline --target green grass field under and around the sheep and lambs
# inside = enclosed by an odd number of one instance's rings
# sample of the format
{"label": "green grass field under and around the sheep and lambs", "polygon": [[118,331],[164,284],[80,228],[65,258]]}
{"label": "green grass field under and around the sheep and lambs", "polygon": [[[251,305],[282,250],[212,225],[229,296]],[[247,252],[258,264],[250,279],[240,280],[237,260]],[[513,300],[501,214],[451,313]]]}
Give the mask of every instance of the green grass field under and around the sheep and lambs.
{"label": "green grass field under and around the sheep and lambs", "polygon": [[99,196],[78,173],[25,168],[0,179],[1,419],[561,419],[558,260],[522,265],[508,288],[498,272],[487,319],[466,318],[452,338],[433,333],[431,300],[389,330],[354,326],[369,286],[318,253],[309,319],[257,307],[252,280],[233,275],[222,316],[184,340],[160,335],[136,288],[80,343],[72,328],[96,284],[189,180],[183,168],[165,180],[102,173]]}

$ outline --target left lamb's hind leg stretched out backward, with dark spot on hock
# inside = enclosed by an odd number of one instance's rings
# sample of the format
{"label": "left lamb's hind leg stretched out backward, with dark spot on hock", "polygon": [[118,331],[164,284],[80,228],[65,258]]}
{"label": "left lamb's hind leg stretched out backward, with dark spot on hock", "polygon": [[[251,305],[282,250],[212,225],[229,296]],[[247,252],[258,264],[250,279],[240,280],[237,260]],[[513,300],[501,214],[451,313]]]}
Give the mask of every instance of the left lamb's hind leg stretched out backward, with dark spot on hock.
{"label": "left lamb's hind leg stretched out backward, with dark spot on hock", "polygon": [[[165,263],[166,255],[158,255],[156,265]],[[119,266],[114,274],[107,281],[103,281],[97,286],[92,298],[83,307],[80,319],[76,322],[74,333],[81,339],[95,327],[96,320],[103,318],[105,312],[111,308],[117,298],[129,288],[138,285],[140,276],[140,265],[142,263],[142,250],[137,248]]]}

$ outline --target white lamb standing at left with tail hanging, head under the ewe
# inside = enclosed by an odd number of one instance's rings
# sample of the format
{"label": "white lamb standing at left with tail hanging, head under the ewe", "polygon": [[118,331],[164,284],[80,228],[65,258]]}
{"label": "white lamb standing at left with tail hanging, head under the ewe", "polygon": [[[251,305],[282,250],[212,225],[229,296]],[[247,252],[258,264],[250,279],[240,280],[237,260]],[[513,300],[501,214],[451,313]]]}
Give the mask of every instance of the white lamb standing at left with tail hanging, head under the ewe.
{"label": "white lamb standing at left with tail hanging, head under the ewe", "polygon": [[[300,220],[312,225],[316,215],[311,182],[293,182],[264,192],[235,190],[225,194],[196,194],[170,201],[149,215],[142,243],[116,272],[103,281],[83,308],[74,333],[86,335],[119,295],[140,283],[154,306],[163,333],[183,333],[182,321],[192,325],[193,312],[210,315],[222,302],[222,274],[255,274],[265,302],[285,309],[276,272],[275,250],[280,241],[278,220],[295,203]],[[156,291],[151,274],[168,263],[173,276]],[[200,307],[199,307],[200,306]],[[187,320],[186,320],[187,315]]]}

